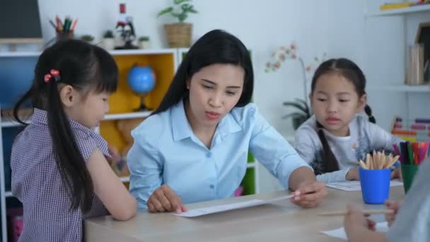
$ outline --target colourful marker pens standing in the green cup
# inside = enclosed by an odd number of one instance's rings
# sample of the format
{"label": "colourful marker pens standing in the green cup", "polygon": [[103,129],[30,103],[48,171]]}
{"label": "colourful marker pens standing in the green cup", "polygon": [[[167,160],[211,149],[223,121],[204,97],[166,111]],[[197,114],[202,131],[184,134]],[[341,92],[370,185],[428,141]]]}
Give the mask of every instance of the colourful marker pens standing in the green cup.
{"label": "colourful marker pens standing in the green cup", "polygon": [[393,148],[402,164],[418,166],[429,156],[429,145],[430,142],[400,142]]}

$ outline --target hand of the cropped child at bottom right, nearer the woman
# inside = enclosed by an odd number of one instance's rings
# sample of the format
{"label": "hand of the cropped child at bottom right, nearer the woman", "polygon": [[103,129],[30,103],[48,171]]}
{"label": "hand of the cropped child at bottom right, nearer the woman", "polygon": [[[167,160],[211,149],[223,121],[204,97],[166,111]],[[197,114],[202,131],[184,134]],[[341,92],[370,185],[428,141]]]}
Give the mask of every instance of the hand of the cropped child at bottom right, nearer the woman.
{"label": "hand of the cropped child at bottom right, nearer the woman", "polygon": [[359,207],[355,205],[348,204],[347,206],[348,214],[344,218],[345,232],[347,232],[348,238],[351,234],[357,230],[357,228],[370,229],[375,231],[376,223],[375,221],[368,219],[368,214],[361,212]]}

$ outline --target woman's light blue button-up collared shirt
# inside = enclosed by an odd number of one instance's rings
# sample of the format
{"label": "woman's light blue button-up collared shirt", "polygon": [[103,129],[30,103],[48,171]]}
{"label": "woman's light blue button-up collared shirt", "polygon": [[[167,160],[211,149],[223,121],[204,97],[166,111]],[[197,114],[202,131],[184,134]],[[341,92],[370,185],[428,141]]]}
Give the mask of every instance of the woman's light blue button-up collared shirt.
{"label": "woman's light blue button-up collared shirt", "polygon": [[284,188],[292,171],[308,166],[254,104],[233,108],[223,117],[211,149],[194,136],[182,101],[148,117],[132,136],[127,162],[130,192],[139,209],[146,209],[153,191],[164,184],[183,204],[233,196],[245,175],[248,151]]}

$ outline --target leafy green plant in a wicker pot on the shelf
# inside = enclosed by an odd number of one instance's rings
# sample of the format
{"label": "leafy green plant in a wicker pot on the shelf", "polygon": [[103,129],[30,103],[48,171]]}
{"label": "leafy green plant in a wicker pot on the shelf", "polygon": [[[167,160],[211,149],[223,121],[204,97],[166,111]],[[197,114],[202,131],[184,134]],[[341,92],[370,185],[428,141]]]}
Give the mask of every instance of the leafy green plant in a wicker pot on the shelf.
{"label": "leafy green plant in a wicker pot on the shelf", "polygon": [[190,13],[197,13],[191,0],[173,0],[173,6],[164,8],[158,12],[158,16],[170,14],[174,18],[178,18],[178,23],[170,23],[164,25],[165,35],[168,38],[168,43],[171,48],[190,47],[192,36],[192,23],[184,23]]}

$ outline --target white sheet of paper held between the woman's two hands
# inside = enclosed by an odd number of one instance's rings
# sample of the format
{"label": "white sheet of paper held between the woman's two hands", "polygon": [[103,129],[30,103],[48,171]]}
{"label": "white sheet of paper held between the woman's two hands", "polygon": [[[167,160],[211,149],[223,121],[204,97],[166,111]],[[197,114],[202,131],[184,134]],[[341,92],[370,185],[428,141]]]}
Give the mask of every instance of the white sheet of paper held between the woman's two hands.
{"label": "white sheet of paper held between the woman's two hands", "polygon": [[283,197],[276,197],[273,199],[269,199],[269,200],[249,200],[249,201],[245,201],[245,202],[235,202],[235,203],[231,203],[231,204],[224,204],[224,205],[218,205],[218,206],[212,206],[212,207],[202,207],[199,209],[191,209],[188,210],[187,212],[182,212],[181,214],[175,214],[181,217],[197,217],[197,216],[202,216],[202,215],[206,215],[206,214],[214,214],[216,212],[225,212],[228,210],[233,210],[233,209],[241,209],[241,208],[245,208],[245,207],[253,207],[253,206],[257,206],[257,205],[261,205],[261,204],[267,204],[267,203],[271,203],[271,202],[277,202],[280,200],[286,200],[293,197],[293,195],[286,195]]}

